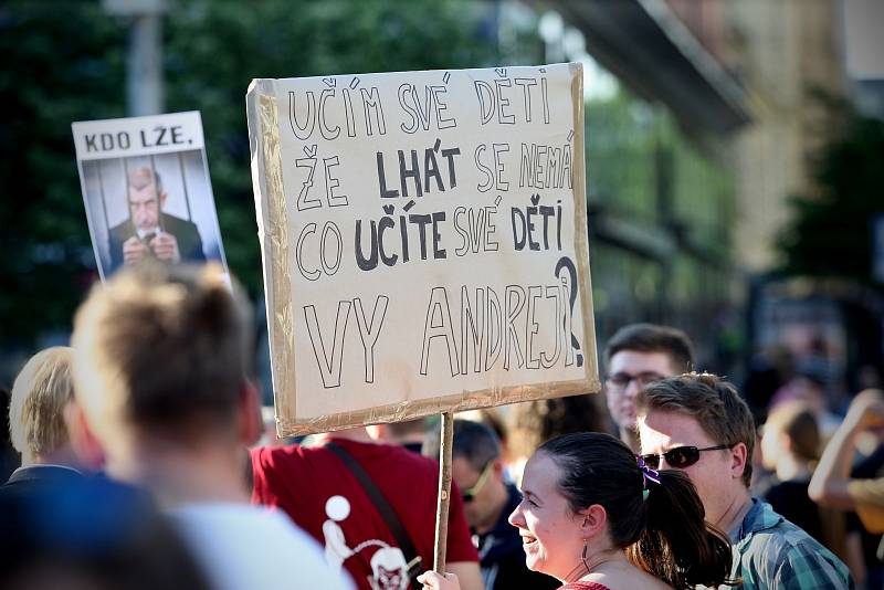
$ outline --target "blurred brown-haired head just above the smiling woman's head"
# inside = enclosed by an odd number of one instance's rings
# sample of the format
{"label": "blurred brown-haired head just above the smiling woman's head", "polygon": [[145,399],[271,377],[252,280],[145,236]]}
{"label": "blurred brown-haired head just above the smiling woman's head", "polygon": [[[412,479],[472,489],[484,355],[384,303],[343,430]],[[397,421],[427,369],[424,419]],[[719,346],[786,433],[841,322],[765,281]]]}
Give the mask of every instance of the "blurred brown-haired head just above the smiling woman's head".
{"label": "blurred brown-haired head just above the smiling woman's head", "polygon": [[513,404],[509,475],[518,484],[528,457],[549,439],[572,432],[608,432],[600,396],[579,394]]}

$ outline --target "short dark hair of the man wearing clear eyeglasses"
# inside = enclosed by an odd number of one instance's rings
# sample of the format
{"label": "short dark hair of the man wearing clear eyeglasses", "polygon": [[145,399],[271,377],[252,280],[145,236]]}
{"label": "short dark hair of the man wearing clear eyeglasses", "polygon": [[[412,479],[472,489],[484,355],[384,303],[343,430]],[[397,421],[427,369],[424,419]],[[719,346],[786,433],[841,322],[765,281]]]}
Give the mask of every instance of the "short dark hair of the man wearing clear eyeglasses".
{"label": "short dark hair of the man wearing clear eyeglasses", "polygon": [[614,333],[604,348],[604,364],[621,350],[639,352],[663,352],[676,373],[694,369],[694,345],[691,338],[677,329],[656,324],[630,324]]}

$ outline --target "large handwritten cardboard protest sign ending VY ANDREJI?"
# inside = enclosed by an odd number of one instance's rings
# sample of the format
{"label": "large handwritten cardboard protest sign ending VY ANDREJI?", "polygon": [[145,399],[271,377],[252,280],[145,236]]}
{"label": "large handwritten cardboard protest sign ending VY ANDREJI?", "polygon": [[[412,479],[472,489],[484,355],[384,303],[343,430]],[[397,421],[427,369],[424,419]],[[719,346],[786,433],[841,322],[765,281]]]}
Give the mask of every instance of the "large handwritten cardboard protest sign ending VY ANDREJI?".
{"label": "large handwritten cardboard protest sign ending VY ANDREJI?", "polygon": [[582,70],[256,80],[280,431],[598,391]]}

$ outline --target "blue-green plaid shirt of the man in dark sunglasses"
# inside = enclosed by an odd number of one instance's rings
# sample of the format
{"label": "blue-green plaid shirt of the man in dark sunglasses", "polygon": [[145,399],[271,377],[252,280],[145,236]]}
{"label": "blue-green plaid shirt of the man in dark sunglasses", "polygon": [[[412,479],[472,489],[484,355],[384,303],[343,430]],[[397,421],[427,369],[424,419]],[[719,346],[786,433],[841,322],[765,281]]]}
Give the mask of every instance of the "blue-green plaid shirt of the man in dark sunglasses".
{"label": "blue-green plaid shirt of the man in dark sunglasses", "polygon": [[846,566],[803,529],[753,498],[739,529],[732,531],[732,578],[739,590],[852,590]]}

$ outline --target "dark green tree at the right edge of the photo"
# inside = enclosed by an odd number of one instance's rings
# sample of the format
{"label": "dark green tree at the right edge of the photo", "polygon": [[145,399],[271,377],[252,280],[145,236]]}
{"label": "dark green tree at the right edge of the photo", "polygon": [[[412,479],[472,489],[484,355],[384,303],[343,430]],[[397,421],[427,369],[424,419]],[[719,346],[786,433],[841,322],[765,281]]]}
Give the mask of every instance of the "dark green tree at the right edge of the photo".
{"label": "dark green tree at the right edge of the photo", "polygon": [[779,241],[785,271],[870,283],[872,225],[884,213],[884,122],[852,115],[822,150],[819,194],[790,199],[792,220]]}

